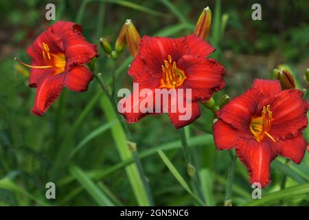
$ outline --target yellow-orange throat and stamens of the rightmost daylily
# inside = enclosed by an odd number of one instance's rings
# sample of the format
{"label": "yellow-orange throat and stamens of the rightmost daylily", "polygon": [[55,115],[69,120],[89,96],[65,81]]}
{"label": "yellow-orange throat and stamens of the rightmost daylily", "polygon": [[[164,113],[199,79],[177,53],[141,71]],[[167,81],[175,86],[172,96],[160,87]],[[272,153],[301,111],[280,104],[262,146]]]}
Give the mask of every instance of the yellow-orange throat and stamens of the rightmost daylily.
{"label": "yellow-orange throat and stamens of the rightmost daylily", "polygon": [[273,142],[276,140],[268,133],[271,130],[271,121],[273,118],[273,112],[271,111],[271,105],[268,104],[263,107],[262,115],[260,117],[252,118],[250,123],[250,131],[253,138],[258,142],[261,142],[264,135],[267,135]]}

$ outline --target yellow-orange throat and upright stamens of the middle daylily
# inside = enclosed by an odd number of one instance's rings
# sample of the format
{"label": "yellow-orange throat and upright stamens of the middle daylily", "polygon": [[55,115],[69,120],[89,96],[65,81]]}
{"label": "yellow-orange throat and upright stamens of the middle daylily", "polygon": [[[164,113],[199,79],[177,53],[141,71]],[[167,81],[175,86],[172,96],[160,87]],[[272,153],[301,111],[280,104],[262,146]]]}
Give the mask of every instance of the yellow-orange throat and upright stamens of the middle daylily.
{"label": "yellow-orange throat and upright stamens of the middle daylily", "polygon": [[183,85],[185,81],[185,72],[176,67],[176,62],[172,62],[172,57],[168,55],[168,61],[164,60],[162,67],[162,78],[160,79],[160,88],[172,89]]}

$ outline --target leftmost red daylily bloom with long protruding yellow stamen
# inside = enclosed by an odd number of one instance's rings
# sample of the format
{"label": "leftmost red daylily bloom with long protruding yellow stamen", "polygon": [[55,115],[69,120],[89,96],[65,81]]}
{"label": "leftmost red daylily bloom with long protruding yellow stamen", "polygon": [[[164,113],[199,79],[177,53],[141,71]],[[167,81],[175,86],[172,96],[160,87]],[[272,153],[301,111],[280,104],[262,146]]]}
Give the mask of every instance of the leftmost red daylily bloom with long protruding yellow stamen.
{"label": "leftmost red daylily bloom with long protruding yellow stamen", "polygon": [[98,56],[97,46],[82,36],[82,27],[58,21],[47,27],[27,49],[32,57],[29,86],[36,87],[32,113],[43,115],[65,86],[72,91],[87,91],[93,74],[84,65]]}

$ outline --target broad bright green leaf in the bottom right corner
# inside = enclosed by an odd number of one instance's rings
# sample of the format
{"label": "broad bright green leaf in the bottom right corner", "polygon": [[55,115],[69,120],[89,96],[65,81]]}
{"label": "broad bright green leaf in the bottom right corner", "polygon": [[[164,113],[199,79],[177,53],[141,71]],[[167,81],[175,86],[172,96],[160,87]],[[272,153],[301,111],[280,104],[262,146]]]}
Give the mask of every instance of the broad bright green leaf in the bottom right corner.
{"label": "broad bright green leaf in the bottom right corner", "polygon": [[282,199],[291,199],[293,197],[303,197],[308,199],[309,184],[303,184],[280,190],[278,192],[269,193],[268,195],[262,195],[262,199],[256,199],[251,203],[245,204],[245,206],[269,206],[277,203]]}

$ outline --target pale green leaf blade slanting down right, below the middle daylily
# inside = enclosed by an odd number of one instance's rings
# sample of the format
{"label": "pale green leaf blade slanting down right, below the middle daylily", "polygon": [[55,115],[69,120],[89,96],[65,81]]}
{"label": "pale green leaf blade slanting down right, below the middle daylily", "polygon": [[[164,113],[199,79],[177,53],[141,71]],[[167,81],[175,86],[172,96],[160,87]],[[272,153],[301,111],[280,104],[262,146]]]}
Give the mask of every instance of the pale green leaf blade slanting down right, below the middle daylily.
{"label": "pale green leaf blade slanting down right, below the middle daylily", "polygon": [[179,181],[179,184],[181,184],[181,186],[183,186],[183,188],[187,192],[189,192],[190,195],[192,195],[192,197],[194,197],[194,199],[196,199],[196,201],[198,202],[199,205],[205,206],[203,201],[201,201],[201,199],[199,199],[196,195],[194,195],[194,193],[192,192],[190,187],[187,185],[185,179],[183,179],[183,177],[180,175],[178,170],[176,170],[176,168],[174,167],[172,162],[170,162],[170,159],[168,159],[168,157],[166,157],[165,153],[163,153],[163,151],[161,151],[161,150],[159,150],[158,153],[159,153],[161,159],[163,160],[164,164],[168,167],[168,169],[172,173],[172,175],[174,175],[174,177],[177,179],[177,181]]}

